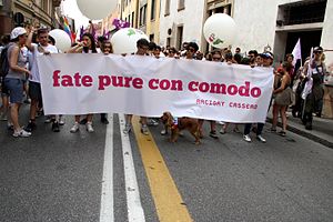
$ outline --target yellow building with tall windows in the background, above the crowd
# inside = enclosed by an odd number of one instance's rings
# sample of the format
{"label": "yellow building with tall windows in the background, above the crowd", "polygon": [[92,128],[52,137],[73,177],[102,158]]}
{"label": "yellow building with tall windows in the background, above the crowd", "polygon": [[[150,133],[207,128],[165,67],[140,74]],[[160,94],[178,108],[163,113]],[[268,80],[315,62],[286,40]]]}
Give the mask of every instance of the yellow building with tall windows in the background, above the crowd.
{"label": "yellow building with tall windows in the background, above the crowd", "polygon": [[120,19],[143,31],[151,41],[160,43],[160,0],[121,0]]}

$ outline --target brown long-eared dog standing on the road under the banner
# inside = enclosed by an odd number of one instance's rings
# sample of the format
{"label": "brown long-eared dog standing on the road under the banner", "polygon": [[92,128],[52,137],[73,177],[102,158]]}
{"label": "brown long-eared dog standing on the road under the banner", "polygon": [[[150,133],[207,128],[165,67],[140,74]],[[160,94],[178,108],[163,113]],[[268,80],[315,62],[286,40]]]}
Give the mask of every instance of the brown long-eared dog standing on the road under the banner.
{"label": "brown long-eared dog standing on the road under the banner", "polygon": [[200,144],[199,137],[199,123],[193,118],[178,118],[178,124],[174,123],[174,118],[170,112],[164,112],[161,117],[162,122],[165,125],[165,130],[171,130],[171,142],[176,142],[180,131],[189,130],[189,132],[195,138],[195,144]]}

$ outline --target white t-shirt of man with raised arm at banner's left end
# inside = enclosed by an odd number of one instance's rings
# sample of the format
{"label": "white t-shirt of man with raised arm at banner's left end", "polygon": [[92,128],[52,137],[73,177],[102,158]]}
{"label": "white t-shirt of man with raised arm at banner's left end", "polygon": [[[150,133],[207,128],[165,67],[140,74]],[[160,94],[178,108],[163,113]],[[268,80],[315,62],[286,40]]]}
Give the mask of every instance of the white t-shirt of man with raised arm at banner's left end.
{"label": "white t-shirt of man with raised arm at banner's left end", "polygon": [[42,56],[44,52],[50,52],[50,53],[58,53],[58,49],[57,47],[52,46],[52,44],[48,44],[48,47],[42,47],[44,50],[43,51],[39,51],[38,50],[38,47],[40,44],[36,44],[36,43],[32,43],[32,47],[33,47],[33,51],[31,52],[31,58],[29,58],[29,62],[30,62],[30,67],[31,67],[31,75],[29,78],[29,81],[32,81],[32,82],[40,82],[40,73],[39,73],[39,69],[38,69],[38,64],[37,64],[37,57],[40,57]]}

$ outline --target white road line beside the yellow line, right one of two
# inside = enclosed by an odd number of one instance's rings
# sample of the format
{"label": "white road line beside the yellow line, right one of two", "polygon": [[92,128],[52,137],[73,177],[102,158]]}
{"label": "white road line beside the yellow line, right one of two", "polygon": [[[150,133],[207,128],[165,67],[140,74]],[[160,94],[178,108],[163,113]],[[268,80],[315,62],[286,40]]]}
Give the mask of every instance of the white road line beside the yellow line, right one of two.
{"label": "white road line beside the yellow line, right one of two", "polygon": [[129,222],[144,222],[145,218],[140,200],[140,191],[137,181],[131,142],[129,135],[123,133],[125,127],[125,119],[123,114],[119,114],[119,125],[122,143]]}

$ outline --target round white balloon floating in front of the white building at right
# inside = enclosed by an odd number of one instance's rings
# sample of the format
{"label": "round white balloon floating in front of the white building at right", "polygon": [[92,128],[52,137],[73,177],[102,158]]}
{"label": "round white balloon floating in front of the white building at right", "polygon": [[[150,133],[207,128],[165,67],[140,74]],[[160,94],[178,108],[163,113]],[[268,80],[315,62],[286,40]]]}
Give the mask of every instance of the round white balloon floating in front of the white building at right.
{"label": "round white balloon floating in front of the white building at right", "polygon": [[236,24],[225,13],[215,13],[208,18],[203,24],[203,36],[214,48],[223,49],[233,43]]}

